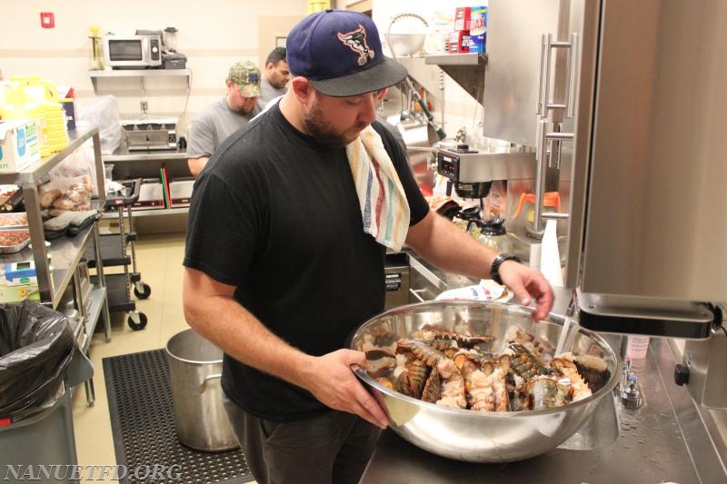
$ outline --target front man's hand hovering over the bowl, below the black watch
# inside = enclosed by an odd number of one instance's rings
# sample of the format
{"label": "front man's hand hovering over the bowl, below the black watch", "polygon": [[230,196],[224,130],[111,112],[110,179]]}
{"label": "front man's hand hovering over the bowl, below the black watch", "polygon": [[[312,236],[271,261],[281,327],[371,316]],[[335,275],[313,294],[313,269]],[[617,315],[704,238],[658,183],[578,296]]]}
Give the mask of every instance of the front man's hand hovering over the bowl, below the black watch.
{"label": "front man's hand hovering over the bowl, below the black watch", "polygon": [[503,262],[499,273],[500,279],[513,290],[523,306],[529,306],[531,297],[535,298],[533,320],[545,319],[553,309],[553,290],[543,274],[515,261]]}

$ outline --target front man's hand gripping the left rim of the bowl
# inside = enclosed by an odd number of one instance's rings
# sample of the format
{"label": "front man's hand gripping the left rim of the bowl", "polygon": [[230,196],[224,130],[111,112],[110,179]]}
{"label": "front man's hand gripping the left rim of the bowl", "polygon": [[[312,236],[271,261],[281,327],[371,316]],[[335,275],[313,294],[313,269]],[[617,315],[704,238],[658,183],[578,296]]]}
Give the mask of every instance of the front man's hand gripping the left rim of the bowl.
{"label": "front man's hand gripping the left rim of the bowl", "polygon": [[354,413],[385,429],[389,419],[354,375],[351,370],[353,364],[364,367],[366,355],[361,351],[338,350],[316,357],[313,364],[304,370],[304,388],[325,406]]}

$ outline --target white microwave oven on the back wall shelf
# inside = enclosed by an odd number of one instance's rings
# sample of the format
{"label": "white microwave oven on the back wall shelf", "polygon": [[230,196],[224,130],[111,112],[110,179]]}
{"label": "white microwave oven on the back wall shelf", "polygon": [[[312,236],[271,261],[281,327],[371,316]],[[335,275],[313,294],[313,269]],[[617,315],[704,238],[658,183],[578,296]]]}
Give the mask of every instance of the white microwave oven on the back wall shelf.
{"label": "white microwave oven on the back wall shelf", "polygon": [[144,69],[162,65],[161,35],[104,37],[105,65],[115,69]]}

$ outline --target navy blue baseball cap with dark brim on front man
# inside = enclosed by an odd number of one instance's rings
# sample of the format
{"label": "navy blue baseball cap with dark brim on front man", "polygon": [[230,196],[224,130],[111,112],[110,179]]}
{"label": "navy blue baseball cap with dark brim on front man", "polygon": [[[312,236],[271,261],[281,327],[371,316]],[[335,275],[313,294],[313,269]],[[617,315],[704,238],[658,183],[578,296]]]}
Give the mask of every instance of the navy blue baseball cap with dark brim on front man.
{"label": "navy blue baseball cap with dark brim on front man", "polygon": [[406,68],[383,55],[367,15],[328,9],[306,16],[288,34],[288,69],[323,94],[349,96],[401,83]]}

